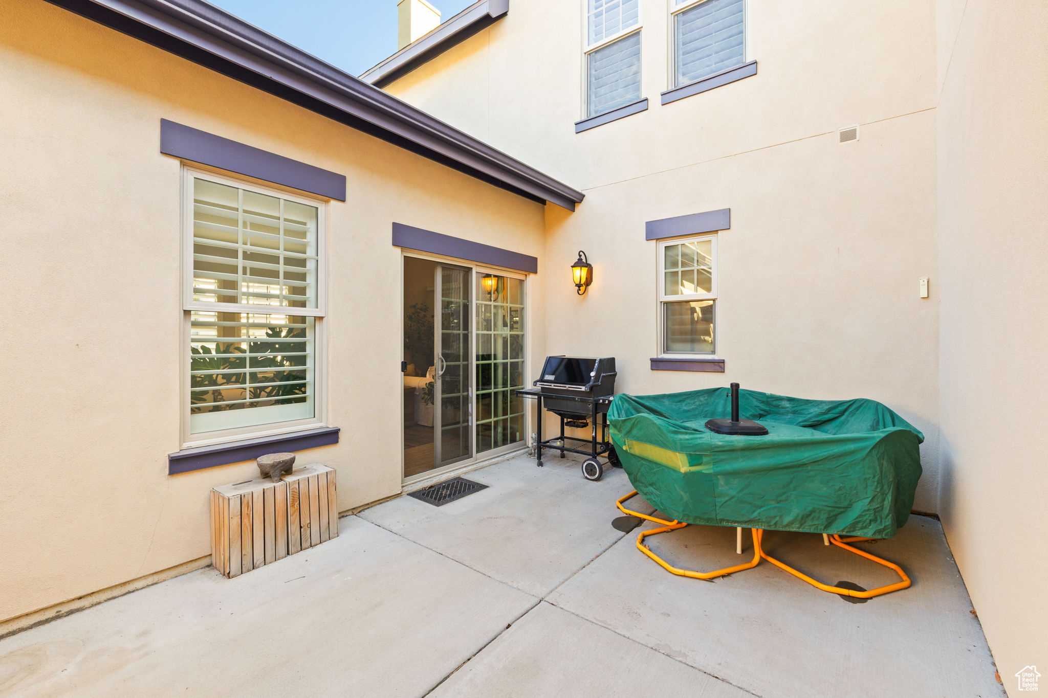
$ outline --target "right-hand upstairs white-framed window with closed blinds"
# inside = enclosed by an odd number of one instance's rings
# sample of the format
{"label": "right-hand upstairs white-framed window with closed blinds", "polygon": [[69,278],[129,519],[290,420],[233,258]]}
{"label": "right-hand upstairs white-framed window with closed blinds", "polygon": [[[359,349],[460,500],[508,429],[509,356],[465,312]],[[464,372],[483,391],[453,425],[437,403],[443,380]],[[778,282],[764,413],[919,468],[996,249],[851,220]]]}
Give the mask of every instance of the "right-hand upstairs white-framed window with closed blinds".
{"label": "right-hand upstairs white-framed window with closed blinds", "polygon": [[673,85],[746,62],[745,0],[670,0]]}

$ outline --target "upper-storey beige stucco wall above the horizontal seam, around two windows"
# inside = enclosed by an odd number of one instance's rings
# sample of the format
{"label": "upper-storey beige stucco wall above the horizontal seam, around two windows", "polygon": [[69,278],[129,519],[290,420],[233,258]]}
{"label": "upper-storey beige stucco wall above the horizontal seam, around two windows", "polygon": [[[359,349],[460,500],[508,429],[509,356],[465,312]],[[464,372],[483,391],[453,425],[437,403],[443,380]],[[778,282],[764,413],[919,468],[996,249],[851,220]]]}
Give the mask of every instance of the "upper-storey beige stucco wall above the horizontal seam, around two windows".
{"label": "upper-storey beige stucco wall above the horizontal seam, around two windows", "polygon": [[583,133],[585,0],[516,0],[386,89],[581,188],[935,106],[932,0],[745,0],[744,61],[757,74],[662,105],[674,2],[638,2],[648,110]]}

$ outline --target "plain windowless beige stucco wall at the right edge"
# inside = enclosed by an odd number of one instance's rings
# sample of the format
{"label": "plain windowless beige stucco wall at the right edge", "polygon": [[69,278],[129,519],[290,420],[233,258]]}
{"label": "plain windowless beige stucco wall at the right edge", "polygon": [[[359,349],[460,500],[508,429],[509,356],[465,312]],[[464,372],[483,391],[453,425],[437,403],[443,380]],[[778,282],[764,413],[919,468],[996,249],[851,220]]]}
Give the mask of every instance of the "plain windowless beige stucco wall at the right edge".
{"label": "plain windowless beige stucco wall at the right edge", "polygon": [[942,522],[1028,695],[1017,671],[1048,676],[1048,6],[942,0],[939,49]]}

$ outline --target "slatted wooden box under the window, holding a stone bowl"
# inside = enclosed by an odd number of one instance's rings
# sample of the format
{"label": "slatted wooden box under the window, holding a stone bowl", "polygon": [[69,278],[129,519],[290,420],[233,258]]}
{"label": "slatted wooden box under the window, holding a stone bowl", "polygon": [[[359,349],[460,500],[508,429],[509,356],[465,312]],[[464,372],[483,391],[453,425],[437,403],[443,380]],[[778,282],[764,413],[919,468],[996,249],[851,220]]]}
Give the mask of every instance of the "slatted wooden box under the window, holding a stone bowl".
{"label": "slatted wooden box under the window, holding a stone bowl", "polygon": [[211,491],[211,560],[226,577],[249,572],[339,535],[334,470],[298,468]]}

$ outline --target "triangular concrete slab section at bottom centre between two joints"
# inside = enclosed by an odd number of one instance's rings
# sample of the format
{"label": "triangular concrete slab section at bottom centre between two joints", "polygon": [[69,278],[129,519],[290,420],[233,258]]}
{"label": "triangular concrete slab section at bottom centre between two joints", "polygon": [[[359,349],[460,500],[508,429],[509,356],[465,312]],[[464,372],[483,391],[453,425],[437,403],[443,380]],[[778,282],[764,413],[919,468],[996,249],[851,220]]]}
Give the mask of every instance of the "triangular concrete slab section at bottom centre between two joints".
{"label": "triangular concrete slab section at bottom centre between two joints", "polygon": [[542,603],[452,674],[432,698],[751,698],[655,650]]}

